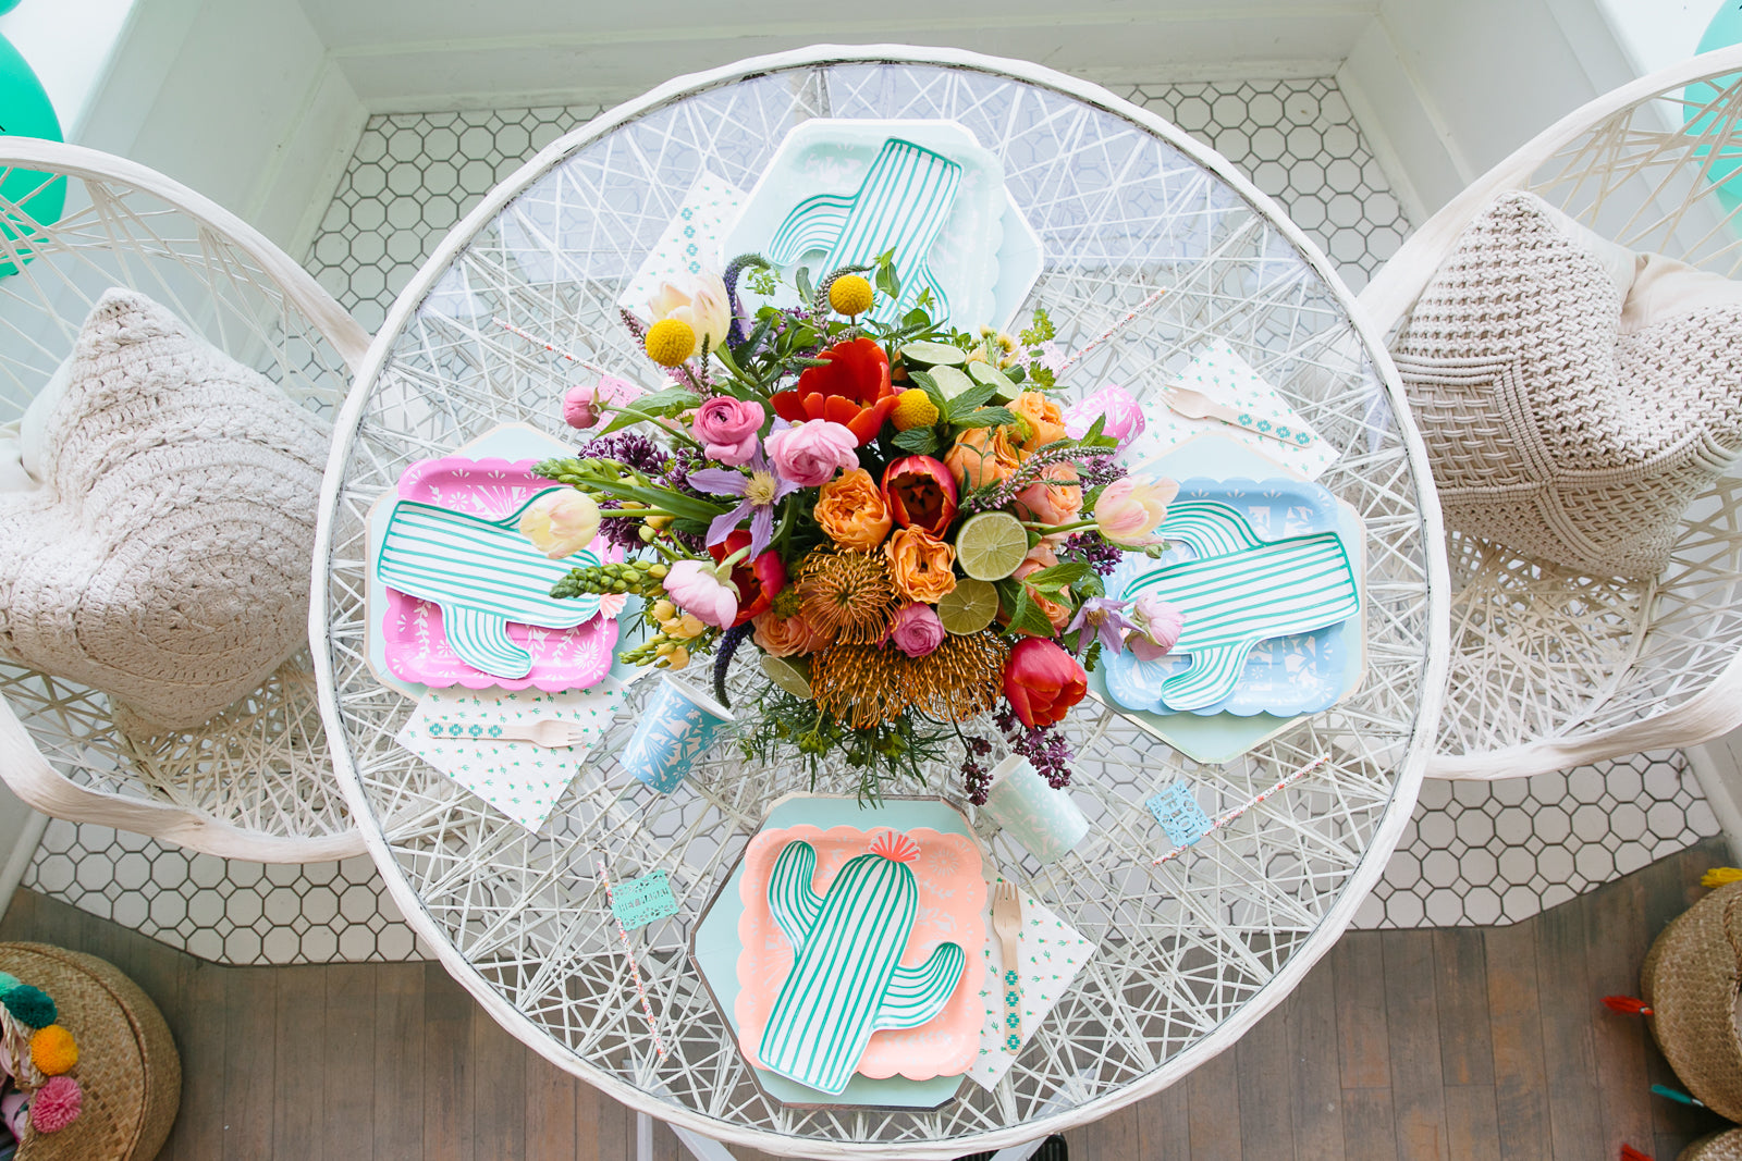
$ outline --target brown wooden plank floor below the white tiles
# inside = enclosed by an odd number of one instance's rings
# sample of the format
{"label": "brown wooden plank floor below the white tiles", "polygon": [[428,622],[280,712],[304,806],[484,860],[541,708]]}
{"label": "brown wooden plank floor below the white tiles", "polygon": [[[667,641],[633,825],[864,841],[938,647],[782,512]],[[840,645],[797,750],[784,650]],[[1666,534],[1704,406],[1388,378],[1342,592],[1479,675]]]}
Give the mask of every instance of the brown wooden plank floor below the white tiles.
{"label": "brown wooden plank floor below the white tiles", "polygon": [[[1510,928],[1355,931],[1185,1083],[1068,1135],[1077,1161],[1671,1161],[1719,1126],[1637,992],[1669,919],[1728,862],[1711,839]],[[92,952],[159,1003],[186,1072],[164,1161],[627,1161],[636,1117],[503,1032],[436,964],[223,968],[19,891],[0,940]],[[688,1158],[655,1124],[658,1161]],[[754,1158],[739,1151],[742,1158]]]}

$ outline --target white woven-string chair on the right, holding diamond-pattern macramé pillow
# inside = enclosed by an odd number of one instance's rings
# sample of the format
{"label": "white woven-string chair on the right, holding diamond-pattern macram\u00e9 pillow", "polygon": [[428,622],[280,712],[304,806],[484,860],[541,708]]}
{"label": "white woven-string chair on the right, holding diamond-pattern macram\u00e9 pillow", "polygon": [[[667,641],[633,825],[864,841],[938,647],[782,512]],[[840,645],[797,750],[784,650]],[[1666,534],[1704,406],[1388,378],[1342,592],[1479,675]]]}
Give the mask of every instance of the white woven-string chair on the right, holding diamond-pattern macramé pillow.
{"label": "white woven-string chair on the right, holding diamond-pattern macram\u00e9 pillow", "polygon": [[[1742,47],[1617,89],[1434,214],[1361,305],[1394,332],[1470,219],[1521,188],[1636,251],[1737,277],[1742,172],[1726,169],[1742,162],[1739,118]],[[1739,197],[1726,205],[1718,185]],[[1742,724],[1742,479],[1732,477],[1695,501],[1672,564],[1650,583],[1451,534],[1451,686],[1428,776],[1536,775]]]}

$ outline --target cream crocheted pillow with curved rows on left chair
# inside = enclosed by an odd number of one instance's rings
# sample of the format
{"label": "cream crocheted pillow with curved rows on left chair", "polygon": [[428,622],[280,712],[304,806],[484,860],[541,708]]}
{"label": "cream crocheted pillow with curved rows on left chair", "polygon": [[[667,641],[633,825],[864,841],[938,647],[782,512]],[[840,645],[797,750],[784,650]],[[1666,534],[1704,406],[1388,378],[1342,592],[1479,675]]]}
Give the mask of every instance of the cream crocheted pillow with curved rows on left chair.
{"label": "cream crocheted pillow with curved rows on left chair", "polygon": [[44,430],[40,487],[0,493],[0,654],[186,729],[307,635],[329,432],[167,310],[108,291]]}

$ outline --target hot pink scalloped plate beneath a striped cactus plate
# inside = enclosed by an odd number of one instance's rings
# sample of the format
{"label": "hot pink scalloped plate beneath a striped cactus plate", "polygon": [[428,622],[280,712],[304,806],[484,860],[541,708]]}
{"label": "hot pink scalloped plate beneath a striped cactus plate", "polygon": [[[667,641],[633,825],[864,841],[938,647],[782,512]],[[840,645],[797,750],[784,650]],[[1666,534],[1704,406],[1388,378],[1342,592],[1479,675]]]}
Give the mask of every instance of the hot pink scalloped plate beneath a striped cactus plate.
{"label": "hot pink scalloped plate beneath a striped cactus plate", "polygon": [[[535,463],[538,461],[470,456],[420,460],[399,477],[399,496],[500,519],[538,493],[556,487],[533,475]],[[603,560],[622,560],[622,548],[608,545],[603,536],[594,538],[589,548]],[[380,621],[381,653],[394,677],[436,689],[535,688],[559,693],[587,689],[604,681],[617,648],[617,614],[622,613],[624,597],[601,597],[599,616],[575,628],[538,628],[510,621],[509,637],[533,656],[533,668],[526,677],[496,677],[462,661],[448,646],[441,609],[434,602],[387,588],[385,604]]]}

